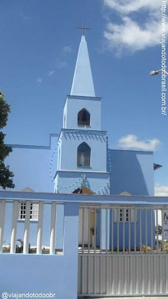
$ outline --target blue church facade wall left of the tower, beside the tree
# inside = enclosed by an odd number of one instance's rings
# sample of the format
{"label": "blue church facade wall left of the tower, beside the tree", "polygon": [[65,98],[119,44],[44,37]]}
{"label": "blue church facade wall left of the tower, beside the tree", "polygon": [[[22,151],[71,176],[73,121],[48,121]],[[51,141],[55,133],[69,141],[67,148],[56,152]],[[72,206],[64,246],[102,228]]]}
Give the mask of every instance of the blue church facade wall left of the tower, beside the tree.
{"label": "blue church facade wall left of the tower, beside the tree", "polygon": [[13,152],[5,159],[5,164],[9,164],[14,173],[13,190],[20,191],[28,187],[35,192],[53,192],[52,177],[57,169],[57,139],[57,134],[50,134],[49,146],[11,145]]}

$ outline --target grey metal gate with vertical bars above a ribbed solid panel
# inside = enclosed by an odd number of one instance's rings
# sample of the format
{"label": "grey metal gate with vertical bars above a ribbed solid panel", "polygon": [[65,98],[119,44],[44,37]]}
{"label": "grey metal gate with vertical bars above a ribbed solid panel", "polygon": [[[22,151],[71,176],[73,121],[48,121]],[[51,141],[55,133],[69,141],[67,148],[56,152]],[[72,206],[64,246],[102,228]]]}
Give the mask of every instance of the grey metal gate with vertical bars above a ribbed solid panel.
{"label": "grey metal gate with vertical bars above a ribbed solid panel", "polygon": [[79,209],[79,297],[168,295],[163,206]]}

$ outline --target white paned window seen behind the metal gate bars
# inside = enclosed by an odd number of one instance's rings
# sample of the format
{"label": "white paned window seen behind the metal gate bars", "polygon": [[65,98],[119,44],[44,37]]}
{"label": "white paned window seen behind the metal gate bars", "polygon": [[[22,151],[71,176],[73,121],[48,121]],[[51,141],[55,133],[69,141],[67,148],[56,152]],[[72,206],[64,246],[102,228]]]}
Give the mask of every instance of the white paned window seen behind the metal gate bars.
{"label": "white paned window seen behind the metal gate bars", "polygon": [[[118,211],[118,215],[117,215]],[[114,209],[114,222],[117,222],[117,216],[119,216],[119,222],[134,222],[134,216],[136,217],[136,222],[137,222],[137,210],[134,209],[125,209],[125,213],[123,215],[124,209],[119,208],[119,209]],[[123,218],[124,217],[124,218]],[[130,219],[130,220],[129,220]]]}

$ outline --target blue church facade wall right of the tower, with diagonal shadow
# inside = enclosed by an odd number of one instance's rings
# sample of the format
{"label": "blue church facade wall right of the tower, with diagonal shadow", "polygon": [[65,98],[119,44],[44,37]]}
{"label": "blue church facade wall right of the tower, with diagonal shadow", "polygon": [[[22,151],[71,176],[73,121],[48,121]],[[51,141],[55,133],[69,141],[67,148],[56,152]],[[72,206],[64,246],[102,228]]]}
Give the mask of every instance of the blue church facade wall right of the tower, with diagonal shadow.
{"label": "blue church facade wall right of the tower, with diagonal shadow", "polygon": [[110,150],[110,156],[110,194],[154,195],[153,152]]}

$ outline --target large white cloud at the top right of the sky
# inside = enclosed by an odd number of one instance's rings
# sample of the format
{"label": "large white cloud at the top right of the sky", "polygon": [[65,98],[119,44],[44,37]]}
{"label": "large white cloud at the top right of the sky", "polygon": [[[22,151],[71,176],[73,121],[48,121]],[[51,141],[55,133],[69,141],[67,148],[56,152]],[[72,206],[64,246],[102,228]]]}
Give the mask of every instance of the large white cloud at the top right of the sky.
{"label": "large white cloud at the top right of the sky", "polygon": [[[147,47],[155,46],[160,42],[161,16],[160,3],[158,0],[104,0],[104,5],[119,13],[121,23],[116,24],[108,21],[104,37],[109,49],[116,48],[117,54],[123,49],[132,53]],[[138,23],[138,14],[141,23]],[[134,20],[132,15],[134,13]]]}

